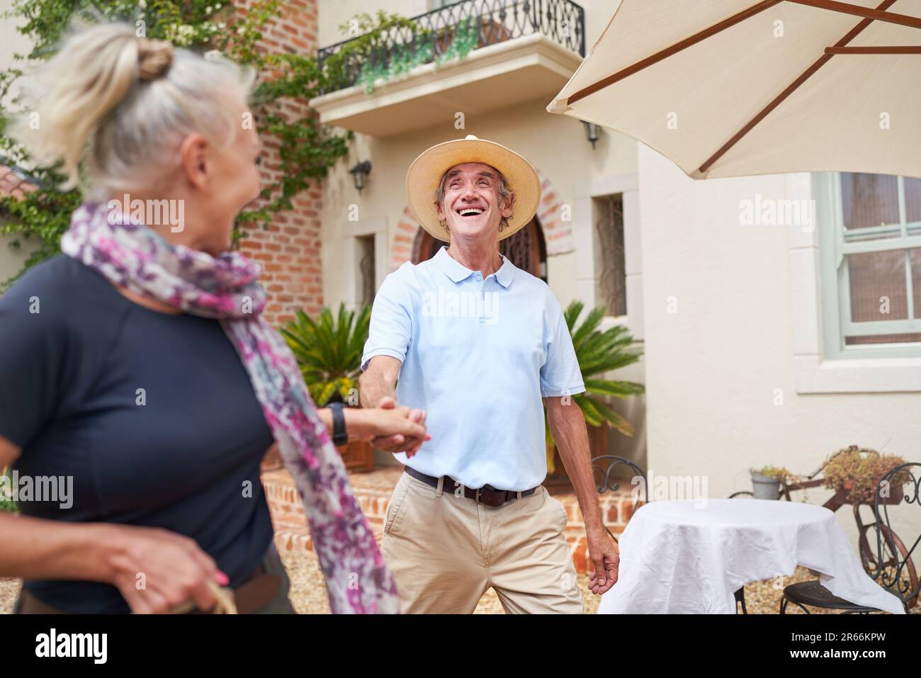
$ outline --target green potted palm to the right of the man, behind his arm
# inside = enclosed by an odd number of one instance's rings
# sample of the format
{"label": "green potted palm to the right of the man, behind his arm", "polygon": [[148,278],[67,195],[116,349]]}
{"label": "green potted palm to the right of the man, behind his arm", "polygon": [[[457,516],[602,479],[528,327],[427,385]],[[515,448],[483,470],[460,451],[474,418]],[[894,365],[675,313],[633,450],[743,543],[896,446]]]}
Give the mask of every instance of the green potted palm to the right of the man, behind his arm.
{"label": "green potted palm to the right of the man, behind his arm", "polygon": [[[633,365],[642,356],[634,347],[634,338],[622,325],[601,332],[598,328],[604,318],[604,307],[591,310],[585,321],[578,327],[576,321],[582,313],[584,304],[573,301],[566,307],[564,317],[569,328],[573,346],[576,349],[578,366],[585,381],[585,392],[569,396],[585,416],[589,425],[589,446],[592,457],[608,453],[608,428],[620,431],[624,436],[633,436],[633,427],[624,417],[617,414],[606,400],[613,396],[626,398],[646,391],[643,384],[633,381],[603,379],[602,375],[615,369]],[[554,434],[550,430],[549,419],[544,412],[547,446],[547,484],[562,485],[568,483],[559,451],[556,450]]]}

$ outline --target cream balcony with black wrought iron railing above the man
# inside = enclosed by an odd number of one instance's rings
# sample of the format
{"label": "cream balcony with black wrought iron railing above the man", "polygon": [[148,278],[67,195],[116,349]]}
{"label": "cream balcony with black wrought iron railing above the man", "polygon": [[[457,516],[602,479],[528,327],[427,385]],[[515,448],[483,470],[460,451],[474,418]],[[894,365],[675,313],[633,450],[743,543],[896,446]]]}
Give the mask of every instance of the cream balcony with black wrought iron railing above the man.
{"label": "cream balcony with black wrought iron railing above the man", "polygon": [[[327,68],[330,84],[310,105],[322,123],[389,136],[453,122],[457,111],[471,118],[549,100],[585,55],[585,12],[569,0],[464,0],[370,44],[361,38],[320,50],[321,67],[341,63]],[[398,75],[375,79],[387,69]]]}

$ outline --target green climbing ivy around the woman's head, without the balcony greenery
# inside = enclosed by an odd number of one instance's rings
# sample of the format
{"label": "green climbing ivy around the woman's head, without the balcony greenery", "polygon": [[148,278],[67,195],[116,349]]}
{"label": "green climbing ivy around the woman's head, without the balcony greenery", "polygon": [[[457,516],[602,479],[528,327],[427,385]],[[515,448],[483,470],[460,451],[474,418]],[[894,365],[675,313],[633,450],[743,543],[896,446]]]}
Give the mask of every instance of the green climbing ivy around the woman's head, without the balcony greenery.
{"label": "green climbing ivy around the woman's head, without the balcony greenery", "polygon": [[[48,59],[75,18],[89,21],[121,20],[135,26],[139,35],[165,39],[197,52],[218,52],[239,64],[251,65],[260,74],[253,92],[252,111],[260,134],[278,142],[283,179],[262,191],[265,202],[253,211],[241,213],[235,240],[245,228],[265,228],[274,214],[291,209],[292,198],[312,181],[321,181],[347,151],[351,133],[334,134],[321,125],[315,111],[283,116],[280,106],[286,99],[309,100],[324,88],[325,79],[312,55],[290,54],[261,49],[262,31],[272,18],[281,18],[280,0],[256,0],[239,11],[226,0],[16,0],[3,13],[4,20],[20,23],[18,30],[29,38],[28,54],[17,54],[16,64],[0,72],[0,158],[6,165],[28,167],[25,149],[6,135],[9,122],[21,110],[18,97],[11,97],[13,86],[24,69],[25,60]],[[325,69],[324,69],[325,70]],[[60,251],[60,240],[69,227],[70,215],[82,202],[78,189],[59,191],[63,177],[53,168],[32,170],[29,180],[38,186],[23,200],[0,198],[0,234],[10,237],[9,245],[18,248],[21,240],[38,240],[23,269],[5,286],[39,263]]]}

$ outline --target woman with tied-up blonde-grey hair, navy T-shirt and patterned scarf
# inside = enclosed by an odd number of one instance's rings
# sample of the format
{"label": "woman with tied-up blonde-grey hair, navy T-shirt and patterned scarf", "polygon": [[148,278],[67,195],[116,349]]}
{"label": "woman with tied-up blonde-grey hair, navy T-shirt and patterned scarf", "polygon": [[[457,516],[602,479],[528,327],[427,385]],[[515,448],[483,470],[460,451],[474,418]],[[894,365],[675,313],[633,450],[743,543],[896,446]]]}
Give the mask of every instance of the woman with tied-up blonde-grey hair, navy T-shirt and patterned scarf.
{"label": "woman with tied-up blonde-grey hair, navy T-shirt and patterned scarf", "polygon": [[[274,441],[332,611],[397,611],[329,433],[414,452],[425,415],[318,412],[262,321],[259,270],[228,251],[260,192],[251,74],[110,24],[36,77],[38,128],[16,134],[88,202],[64,253],[0,298],[0,467],[21,486],[53,477],[59,495],[0,515],[0,576],[25,579],[17,612],[205,611],[216,584],[239,612],[291,612],[259,476]],[[110,203],[126,195],[181,223]]]}

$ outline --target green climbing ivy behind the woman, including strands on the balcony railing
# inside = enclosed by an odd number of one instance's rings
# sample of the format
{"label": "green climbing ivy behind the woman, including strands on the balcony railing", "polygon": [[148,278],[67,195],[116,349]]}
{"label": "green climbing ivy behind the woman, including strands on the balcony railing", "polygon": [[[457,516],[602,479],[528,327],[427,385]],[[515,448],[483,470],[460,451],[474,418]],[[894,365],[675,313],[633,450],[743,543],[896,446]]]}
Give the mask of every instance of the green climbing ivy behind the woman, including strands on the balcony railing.
{"label": "green climbing ivy behind the woman, including strands on the balcony railing", "polygon": [[[283,16],[281,0],[256,0],[240,11],[228,0],[15,0],[0,17],[21,23],[18,30],[29,38],[32,50],[17,54],[16,61],[48,59],[75,18],[90,21],[121,20],[133,24],[139,35],[172,41],[197,52],[216,50],[238,64],[253,66],[260,74],[251,106],[257,129],[274,137],[279,148],[282,179],[262,190],[265,201],[255,210],[237,217],[234,240],[246,228],[266,228],[278,212],[289,210],[292,199],[311,182],[319,182],[347,152],[353,134],[335,134],[322,125],[316,111],[303,115],[281,114],[286,99],[312,99],[323,92],[344,88],[351,83],[353,64],[360,65],[358,84],[372,92],[376,81],[402,76],[416,65],[462,59],[479,40],[478,18],[461,21],[445,29],[423,29],[412,19],[379,11],[376,17],[363,13],[339,28],[351,38],[326,59],[322,66],[312,54],[293,54],[266,50],[260,44],[262,31],[272,18]],[[394,31],[411,33],[411,41],[394,45]],[[439,49],[436,50],[436,45]],[[21,109],[17,97],[10,97],[22,68],[13,66],[0,72],[0,162],[28,167],[25,149],[6,135],[10,119]],[[0,235],[10,236],[13,248],[21,240],[38,240],[21,271],[0,289],[8,286],[32,265],[60,251],[60,240],[70,225],[71,213],[83,202],[79,189],[62,192],[56,188],[63,177],[54,168],[32,170],[29,181],[35,191],[19,200],[0,197]]]}

